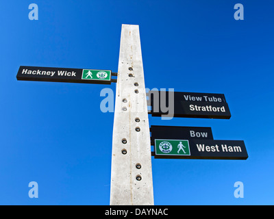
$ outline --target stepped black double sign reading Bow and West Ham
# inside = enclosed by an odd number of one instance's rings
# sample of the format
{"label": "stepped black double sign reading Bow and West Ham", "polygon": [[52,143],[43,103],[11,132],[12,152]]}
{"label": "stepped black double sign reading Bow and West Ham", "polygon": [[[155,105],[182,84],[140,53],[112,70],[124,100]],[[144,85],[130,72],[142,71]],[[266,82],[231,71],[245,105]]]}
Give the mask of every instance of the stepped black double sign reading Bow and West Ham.
{"label": "stepped black double sign reading Bow and West Ham", "polygon": [[213,140],[210,127],[169,127],[151,125],[155,158],[247,159],[241,140]]}

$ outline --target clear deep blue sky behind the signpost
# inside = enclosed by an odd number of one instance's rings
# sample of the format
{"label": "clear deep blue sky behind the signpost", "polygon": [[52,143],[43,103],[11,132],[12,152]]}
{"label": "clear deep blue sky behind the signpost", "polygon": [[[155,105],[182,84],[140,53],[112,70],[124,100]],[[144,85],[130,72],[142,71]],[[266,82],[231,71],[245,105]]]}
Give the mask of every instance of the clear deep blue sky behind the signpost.
{"label": "clear deep blue sky behind the signpost", "polygon": [[[38,21],[28,18],[38,5]],[[245,20],[234,20],[234,5]],[[111,86],[17,81],[21,65],[118,68],[121,25],[140,25],[147,88],[225,94],[232,118],[149,116],[245,140],[247,160],[152,158],[155,205],[274,204],[273,1],[0,1],[0,204],[109,205]],[[39,198],[29,198],[36,181]],[[234,183],[244,198],[234,198]]]}

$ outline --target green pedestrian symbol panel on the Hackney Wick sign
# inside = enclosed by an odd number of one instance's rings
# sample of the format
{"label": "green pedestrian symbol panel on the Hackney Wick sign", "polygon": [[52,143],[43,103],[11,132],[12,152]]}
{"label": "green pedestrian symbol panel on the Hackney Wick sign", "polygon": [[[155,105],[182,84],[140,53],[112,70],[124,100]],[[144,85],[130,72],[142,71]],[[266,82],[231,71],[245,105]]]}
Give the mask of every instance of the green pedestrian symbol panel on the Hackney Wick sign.
{"label": "green pedestrian symbol panel on the Hackney Wick sign", "polygon": [[111,70],[83,69],[82,79],[110,81]]}

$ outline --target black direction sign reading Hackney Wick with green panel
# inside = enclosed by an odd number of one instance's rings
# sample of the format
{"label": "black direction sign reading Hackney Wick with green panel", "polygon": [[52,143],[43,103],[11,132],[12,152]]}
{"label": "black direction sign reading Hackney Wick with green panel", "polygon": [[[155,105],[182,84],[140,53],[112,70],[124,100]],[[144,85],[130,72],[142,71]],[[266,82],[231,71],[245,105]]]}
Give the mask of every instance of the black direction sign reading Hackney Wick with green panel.
{"label": "black direction sign reading Hackney Wick with green panel", "polygon": [[20,66],[16,78],[21,81],[110,84],[111,70]]}

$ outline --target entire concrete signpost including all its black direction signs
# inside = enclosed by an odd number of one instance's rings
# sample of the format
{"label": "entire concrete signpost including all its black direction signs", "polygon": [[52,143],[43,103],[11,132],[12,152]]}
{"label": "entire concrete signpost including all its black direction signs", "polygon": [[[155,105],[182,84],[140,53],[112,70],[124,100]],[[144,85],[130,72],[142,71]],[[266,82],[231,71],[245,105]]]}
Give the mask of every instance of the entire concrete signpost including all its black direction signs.
{"label": "entire concrete signpost including all its black direction signs", "polygon": [[[113,79],[112,76],[118,76]],[[151,126],[138,25],[122,25],[118,73],[111,70],[20,66],[23,81],[116,83],[112,138],[110,205],[153,205],[151,145],[155,158],[247,159],[243,141],[213,140],[210,127]],[[153,91],[154,92],[154,91]],[[155,103],[169,95],[151,96],[152,116],[166,114]],[[175,117],[230,118],[223,94],[174,92]]]}

